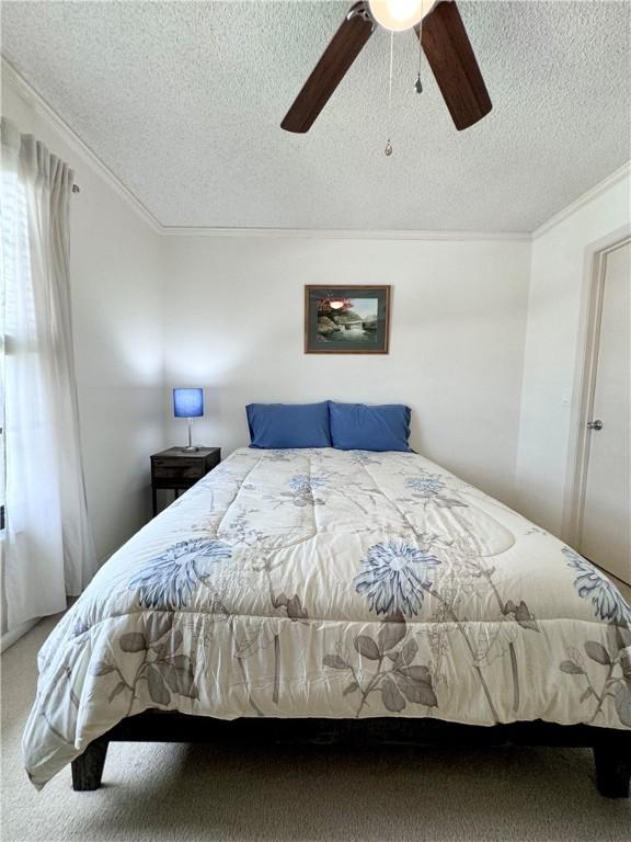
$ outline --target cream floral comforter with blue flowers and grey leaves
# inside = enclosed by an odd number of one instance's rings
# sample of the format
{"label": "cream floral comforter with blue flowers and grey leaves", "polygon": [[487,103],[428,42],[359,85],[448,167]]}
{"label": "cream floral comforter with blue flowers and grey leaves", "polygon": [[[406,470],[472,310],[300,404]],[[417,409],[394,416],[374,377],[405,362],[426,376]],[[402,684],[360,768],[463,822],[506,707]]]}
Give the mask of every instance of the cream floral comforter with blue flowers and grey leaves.
{"label": "cream floral comforter with blue flowers and grey leaves", "polygon": [[36,786],[150,707],[631,728],[631,607],[422,456],[242,448],[107,561],[39,673]]}

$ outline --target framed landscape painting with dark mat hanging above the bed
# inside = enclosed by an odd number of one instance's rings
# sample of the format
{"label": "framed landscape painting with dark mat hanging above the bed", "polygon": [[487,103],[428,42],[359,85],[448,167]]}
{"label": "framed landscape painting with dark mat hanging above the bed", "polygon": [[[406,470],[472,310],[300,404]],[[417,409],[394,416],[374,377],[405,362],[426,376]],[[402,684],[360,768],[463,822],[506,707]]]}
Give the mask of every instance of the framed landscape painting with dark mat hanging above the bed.
{"label": "framed landscape painting with dark mat hanging above the bed", "polygon": [[306,286],[306,354],[387,354],[390,286]]}

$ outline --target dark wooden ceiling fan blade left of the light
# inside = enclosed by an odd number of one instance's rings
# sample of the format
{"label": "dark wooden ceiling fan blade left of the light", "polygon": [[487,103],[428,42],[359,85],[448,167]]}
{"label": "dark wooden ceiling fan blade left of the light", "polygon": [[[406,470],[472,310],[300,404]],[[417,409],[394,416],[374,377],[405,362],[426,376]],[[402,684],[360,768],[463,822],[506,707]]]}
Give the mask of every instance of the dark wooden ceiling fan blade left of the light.
{"label": "dark wooden ceiling fan blade left of the light", "polygon": [[363,0],[355,3],[285,115],[282,128],[287,132],[309,132],[375,29],[368,14],[368,4]]}

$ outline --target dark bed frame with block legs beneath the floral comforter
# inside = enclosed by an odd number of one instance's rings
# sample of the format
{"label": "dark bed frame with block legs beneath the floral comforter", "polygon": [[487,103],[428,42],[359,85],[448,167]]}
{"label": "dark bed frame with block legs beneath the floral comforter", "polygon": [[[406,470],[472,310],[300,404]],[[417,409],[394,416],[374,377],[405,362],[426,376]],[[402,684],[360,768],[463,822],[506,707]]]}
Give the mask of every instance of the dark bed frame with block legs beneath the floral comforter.
{"label": "dark bed frame with block legs beneath the floral comforter", "polygon": [[608,798],[628,798],[631,780],[631,731],[588,725],[530,722],[477,726],[439,719],[378,717],[367,719],[215,719],[164,710],[146,710],[123,719],[91,742],[72,761],[72,786],[97,789],[110,742],[191,742],[291,746],[355,743],[458,748],[538,746],[588,748],[594,751],[596,785]]}

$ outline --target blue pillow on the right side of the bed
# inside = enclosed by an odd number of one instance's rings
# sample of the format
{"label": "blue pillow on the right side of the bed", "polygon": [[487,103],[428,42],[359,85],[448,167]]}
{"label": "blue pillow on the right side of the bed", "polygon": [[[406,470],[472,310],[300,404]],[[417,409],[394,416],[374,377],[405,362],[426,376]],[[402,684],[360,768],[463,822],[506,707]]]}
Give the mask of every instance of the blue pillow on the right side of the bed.
{"label": "blue pillow on the right side of the bed", "polygon": [[329,401],[331,439],[341,451],[410,451],[410,407]]}

